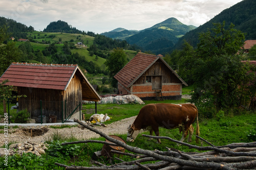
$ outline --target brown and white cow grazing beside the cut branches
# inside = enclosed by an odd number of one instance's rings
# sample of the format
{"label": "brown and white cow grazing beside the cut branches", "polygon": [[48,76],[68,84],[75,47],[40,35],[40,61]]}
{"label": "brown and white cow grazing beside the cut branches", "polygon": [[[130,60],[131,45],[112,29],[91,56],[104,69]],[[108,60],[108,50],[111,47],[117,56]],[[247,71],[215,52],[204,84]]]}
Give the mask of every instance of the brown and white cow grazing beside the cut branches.
{"label": "brown and white cow grazing beside the cut branches", "polygon": [[[158,127],[166,129],[179,128],[182,132],[183,141],[188,132],[189,136],[187,141],[191,142],[194,128],[191,125],[197,117],[197,135],[199,136],[199,124],[198,124],[198,110],[193,104],[148,104],[140,109],[140,112],[134,123],[128,127],[127,141],[134,141],[141,129],[150,130],[150,135],[155,132],[156,136],[159,136]],[[157,139],[161,143],[160,139]],[[198,138],[196,138],[198,142]]]}

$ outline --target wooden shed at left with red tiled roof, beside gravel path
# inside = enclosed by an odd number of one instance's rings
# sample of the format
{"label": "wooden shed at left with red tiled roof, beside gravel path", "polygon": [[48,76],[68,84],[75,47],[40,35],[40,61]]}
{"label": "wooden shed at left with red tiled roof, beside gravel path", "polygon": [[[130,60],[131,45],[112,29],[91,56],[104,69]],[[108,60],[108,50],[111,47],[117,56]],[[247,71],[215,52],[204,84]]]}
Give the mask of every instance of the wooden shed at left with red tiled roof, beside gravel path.
{"label": "wooden shed at left with red tiled roof, beside gravel path", "polygon": [[18,99],[18,109],[28,109],[31,118],[69,118],[80,112],[82,100],[101,100],[77,64],[12,63],[0,82],[6,79],[5,85],[17,87],[18,95],[27,95]]}

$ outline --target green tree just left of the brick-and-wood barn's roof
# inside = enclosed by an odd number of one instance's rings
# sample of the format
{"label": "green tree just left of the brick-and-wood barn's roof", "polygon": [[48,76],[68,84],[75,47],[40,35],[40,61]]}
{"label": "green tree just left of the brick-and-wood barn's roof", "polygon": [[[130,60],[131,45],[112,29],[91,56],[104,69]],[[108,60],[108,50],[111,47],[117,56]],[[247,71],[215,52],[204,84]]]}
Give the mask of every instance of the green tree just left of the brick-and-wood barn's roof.
{"label": "green tree just left of the brick-and-wood barn's roof", "polygon": [[112,79],[111,85],[113,87],[117,87],[117,80],[114,79],[114,76],[123,68],[126,63],[126,54],[122,48],[114,48],[113,52],[110,54],[109,59],[105,61],[105,65],[109,71],[109,76]]}

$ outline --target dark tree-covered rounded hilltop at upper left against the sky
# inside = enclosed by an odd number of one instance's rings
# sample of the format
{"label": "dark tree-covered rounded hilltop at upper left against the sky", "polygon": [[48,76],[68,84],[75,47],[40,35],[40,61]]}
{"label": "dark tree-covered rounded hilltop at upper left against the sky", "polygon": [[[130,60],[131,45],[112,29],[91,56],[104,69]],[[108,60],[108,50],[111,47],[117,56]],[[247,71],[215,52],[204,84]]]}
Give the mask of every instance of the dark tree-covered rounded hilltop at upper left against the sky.
{"label": "dark tree-covered rounded hilltop at upper left against the sky", "polygon": [[75,27],[72,27],[71,25],[68,25],[65,21],[53,21],[50,22],[50,24],[44,29],[43,32],[51,32],[51,33],[70,33],[70,34],[81,34],[82,32],[80,30],[77,30]]}

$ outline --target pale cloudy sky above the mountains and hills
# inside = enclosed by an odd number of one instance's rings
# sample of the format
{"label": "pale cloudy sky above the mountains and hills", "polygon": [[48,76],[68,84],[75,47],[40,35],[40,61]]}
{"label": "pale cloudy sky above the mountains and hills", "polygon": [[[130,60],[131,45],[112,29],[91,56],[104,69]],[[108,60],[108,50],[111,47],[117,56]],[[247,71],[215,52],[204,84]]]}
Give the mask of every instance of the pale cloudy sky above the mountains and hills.
{"label": "pale cloudy sky above the mountains and hills", "polygon": [[242,0],[1,0],[0,16],[36,31],[62,20],[81,31],[143,30],[170,17],[199,27]]}

